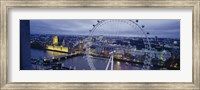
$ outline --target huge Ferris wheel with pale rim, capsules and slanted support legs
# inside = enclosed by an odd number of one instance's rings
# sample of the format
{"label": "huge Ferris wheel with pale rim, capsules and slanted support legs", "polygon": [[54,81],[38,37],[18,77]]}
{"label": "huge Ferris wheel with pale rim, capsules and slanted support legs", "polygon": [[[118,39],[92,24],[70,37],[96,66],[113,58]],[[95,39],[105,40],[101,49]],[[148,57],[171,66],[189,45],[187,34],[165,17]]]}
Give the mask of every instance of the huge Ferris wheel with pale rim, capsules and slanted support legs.
{"label": "huge Ferris wheel with pale rim, capsules and slanted support legs", "polygon": [[[91,70],[95,70],[95,66],[91,59],[90,51],[91,47],[96,44],[96,39],[101,40],[102,37],[115,37],[116,40],[120,39],[119,37],[141,37],[144,44],[144,61],[141,69],[148,70],[152,66],[151,59],[151,44],[148,38],[149,33],[144,31],[145,26],[139,25],[139,20],[124,20],[124,19],[111,19],[111,20],[97,20],[97,23],[93,25],[93,28],[89,30],[89,35],[86,42],[86,56],[87,62]],[[98,38],[99,36],[99,38]],[[101,36],[101,37],[100,37]],[[112,42],[112,40],[110,40]],[[113,43],[108,43],[104,40],[104,43],[107,45],[111,45]],[[103,47],[103,45],[99,45],[98,47]],[[120,50],[125,48],[123,45],[115,46],[118,49],[112,49],[109,52],[108,63],[105,67],[105,70],[110,69],[113,70],[114,63],[114,55]],[[119,49],[120,48],[120,49]],[[123,51],[123,50],[121,50]]]}

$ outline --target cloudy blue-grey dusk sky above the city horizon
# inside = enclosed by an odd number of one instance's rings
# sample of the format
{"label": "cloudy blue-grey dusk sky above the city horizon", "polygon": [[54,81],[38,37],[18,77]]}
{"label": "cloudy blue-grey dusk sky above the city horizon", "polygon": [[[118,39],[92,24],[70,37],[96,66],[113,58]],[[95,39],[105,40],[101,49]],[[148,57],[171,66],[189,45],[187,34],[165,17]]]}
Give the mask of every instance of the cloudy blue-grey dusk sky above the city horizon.
{"label": "cloudy blue-grey dusk sky above the city horizon", "polygon": [[[136,21],[136,20],[133,20]],[[57,35],[88,35],[94,19],[66,19],[66,20],[30,20],[31,34],[57,34]],[[94,35],[110,36],[144,36],[135,25],[126,22],[108,22],[102,24],[94,31]],[[180,20],[178,19],[142,19],[138,20],[139,26],[144,25],[143,31],[150,33],[149,37],[180,38]]]}

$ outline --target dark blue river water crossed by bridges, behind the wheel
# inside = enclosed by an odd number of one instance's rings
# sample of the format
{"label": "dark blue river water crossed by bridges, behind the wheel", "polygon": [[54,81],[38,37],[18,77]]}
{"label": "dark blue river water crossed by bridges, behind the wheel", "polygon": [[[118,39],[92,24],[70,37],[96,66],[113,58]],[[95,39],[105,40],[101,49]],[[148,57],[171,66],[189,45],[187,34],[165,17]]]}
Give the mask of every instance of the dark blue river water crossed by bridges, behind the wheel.
{"label": "dark blue river water crossed by bridges, behind the wheel", "polygon": [[[59,55],[65,55],[65,53],[31,49],[31,58],[53,57]],[[108,59],[91,58],[91,60],[96,70],[105,70]],[[77,56],[73,58],[68,58],[67,60],[64,60],[62,63],[64,67],[73,68],[76,70],[90,70],[86,56]],[[141,68],[142,65],[139,64],[123,62],[123,61],[114,61],[114,70],[139,70]]]}

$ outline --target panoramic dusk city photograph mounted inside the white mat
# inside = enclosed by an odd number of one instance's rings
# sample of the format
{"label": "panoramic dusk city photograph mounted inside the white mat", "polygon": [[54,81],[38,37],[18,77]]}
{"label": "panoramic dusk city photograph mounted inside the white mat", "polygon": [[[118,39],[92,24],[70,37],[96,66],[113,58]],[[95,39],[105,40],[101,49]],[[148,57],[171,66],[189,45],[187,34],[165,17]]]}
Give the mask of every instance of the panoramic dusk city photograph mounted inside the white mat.
{"label": "panoramic dusk city photograph mounted inside the white mat", "polygon": [[180,70],[179,29],[179,20],[20,20],[20,69]]}

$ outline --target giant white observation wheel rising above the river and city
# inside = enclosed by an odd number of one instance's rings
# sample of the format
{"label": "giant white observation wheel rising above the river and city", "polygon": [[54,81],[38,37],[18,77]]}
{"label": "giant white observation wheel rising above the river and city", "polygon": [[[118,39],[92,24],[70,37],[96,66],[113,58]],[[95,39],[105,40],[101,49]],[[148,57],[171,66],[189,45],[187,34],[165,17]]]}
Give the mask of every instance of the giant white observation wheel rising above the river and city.
{"label": "giant white observation wheel rising above the river and city", "polygon": [[[150,69],[152,67],[152,54],[149,32],[145,30],[145,25],[140,24],[141,23],[139,20],[97,20],[97,23],[92,25],[93,27],[91,30],[89,30],[88,38],[85,40],[85,53],[90,69],[96,69],[91,59],[92,56],[102,56],[101,54],[104,52],[104,57],[106,57],[108,60],[105,70],[114,70],[113,63],[115,59],[122,58],[118,54],[121,53],[124,55],[125,52],[128,52],[126,50],[132,50],[131,48],[136,47],[133,43],[130,42],[125,44],[121,43],[124,39],[129,39],[129,37],[139,37],[142,39],[142,45],[138,45],[143,47],[142,49],[144,53],[143,66],[141,69]],[[115,41],[110,38],[114,38]],[[94,48],[96,48],[96,51],[93,50]],[[101,53],[98,52],[99,48],[101,49]],[[134,50],[131,51],[131,55],[135,55]],[[126,60],[126,58],[124,59]]]}

